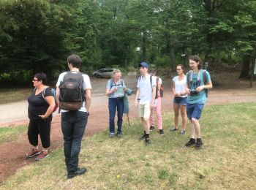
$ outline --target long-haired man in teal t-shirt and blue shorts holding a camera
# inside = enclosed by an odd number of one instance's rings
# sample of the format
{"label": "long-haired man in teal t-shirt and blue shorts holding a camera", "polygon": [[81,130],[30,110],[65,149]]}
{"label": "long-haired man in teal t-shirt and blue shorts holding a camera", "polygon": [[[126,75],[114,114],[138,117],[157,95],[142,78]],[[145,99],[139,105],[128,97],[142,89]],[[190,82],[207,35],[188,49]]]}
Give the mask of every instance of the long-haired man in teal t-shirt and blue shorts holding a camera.
{"label": "long-haired man in teal t-shirt and blue shorts holding a camera", "polygon": [[[201,69],[202,61],[198,56],[189,57],[189,66],[191,71],[187,72],[187,117],[190,121],[190,140],[186,146],[195,145],[199,148],[203,145],[199,118],[206,103],[206,90],[212,88],[212,83],[210,74]],[[203,72],[206,75],[206,83],[203,81]]]}

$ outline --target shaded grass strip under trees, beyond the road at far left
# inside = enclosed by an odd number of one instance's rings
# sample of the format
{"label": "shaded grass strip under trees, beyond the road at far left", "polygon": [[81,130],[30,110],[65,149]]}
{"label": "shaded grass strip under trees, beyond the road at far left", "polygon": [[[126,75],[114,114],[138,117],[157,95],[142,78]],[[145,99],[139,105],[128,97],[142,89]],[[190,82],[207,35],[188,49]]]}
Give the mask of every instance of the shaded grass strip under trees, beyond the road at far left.
{"label": "shaded grass strip under trees, beyond the road at far left", "polygon": [[32,91],[33,88],[1,89],[0,104],[7,104],[26,100]]}

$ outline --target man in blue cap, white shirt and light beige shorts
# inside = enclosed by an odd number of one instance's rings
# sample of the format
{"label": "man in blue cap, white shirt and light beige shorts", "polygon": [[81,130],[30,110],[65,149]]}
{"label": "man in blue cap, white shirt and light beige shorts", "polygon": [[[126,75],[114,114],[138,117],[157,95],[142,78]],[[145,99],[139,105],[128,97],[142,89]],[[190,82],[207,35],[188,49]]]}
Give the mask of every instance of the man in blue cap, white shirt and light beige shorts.
{"label": "man in blue cap, white shirt and light beige shorts", "polygon": [[145,140],[146,145],[150,145],[149,140],[149,116],[151,109],[154,108],[154,99],[156,94],[156,77],[148,74],[148,64],[142,62],[140,67],[140,77],[137,84],[137,93],[135,97],[135,107],[138,107],[138,115],[141,118],[144,134],[140,140]]}

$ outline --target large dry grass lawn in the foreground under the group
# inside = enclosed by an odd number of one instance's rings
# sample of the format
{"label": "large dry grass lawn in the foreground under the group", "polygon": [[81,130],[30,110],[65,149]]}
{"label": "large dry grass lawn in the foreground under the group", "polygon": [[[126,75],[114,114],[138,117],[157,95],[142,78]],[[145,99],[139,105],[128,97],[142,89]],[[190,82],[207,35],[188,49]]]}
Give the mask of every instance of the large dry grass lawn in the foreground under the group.
{"label": "large dry grass lawn in the foreground under the group", "polygon": [[0,189],[256,189],[256,102],[205,107],[200,120],[203,147],[186,148],[189,135],[169,132],[173,113],[164,113],[165,135],[138,138],[140,122],[124,124],[122,140],[108,132],[83,140],[80,166],[88,172],[67,180],[63,149],[21,168]]}

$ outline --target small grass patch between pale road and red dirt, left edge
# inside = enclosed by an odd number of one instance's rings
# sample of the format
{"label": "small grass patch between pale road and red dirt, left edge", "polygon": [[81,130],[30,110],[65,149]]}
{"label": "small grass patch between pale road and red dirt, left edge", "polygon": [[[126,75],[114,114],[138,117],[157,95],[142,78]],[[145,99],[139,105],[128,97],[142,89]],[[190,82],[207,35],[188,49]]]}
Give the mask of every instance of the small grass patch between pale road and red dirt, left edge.
{"label": "small grass patch between pale road and red dirt, left edge", "polygon": [[0,143],[11,142],[17,139],[18,135],[23,134],[27,129],[27,126],[15,126],[15,127],[1,127],[0,128]]}

